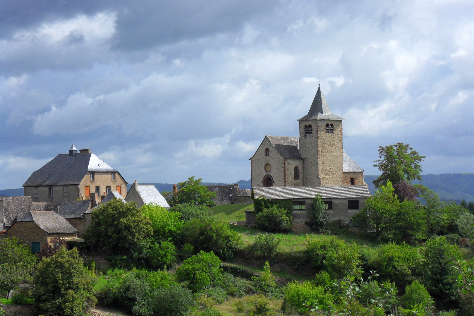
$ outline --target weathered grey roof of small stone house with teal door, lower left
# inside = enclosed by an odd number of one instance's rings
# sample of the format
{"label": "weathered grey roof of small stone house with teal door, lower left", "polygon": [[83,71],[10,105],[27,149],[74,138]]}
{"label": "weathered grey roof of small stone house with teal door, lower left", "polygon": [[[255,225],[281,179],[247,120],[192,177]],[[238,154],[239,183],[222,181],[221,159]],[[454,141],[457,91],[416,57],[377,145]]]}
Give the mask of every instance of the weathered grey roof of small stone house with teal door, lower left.
{"label": "weathered grey roof of small stone house with teal door, lower left", "polygon": [[17,219],[17,222],[35,222],[49,234],[79,233],[67,220],[53,211],[30,211]]}

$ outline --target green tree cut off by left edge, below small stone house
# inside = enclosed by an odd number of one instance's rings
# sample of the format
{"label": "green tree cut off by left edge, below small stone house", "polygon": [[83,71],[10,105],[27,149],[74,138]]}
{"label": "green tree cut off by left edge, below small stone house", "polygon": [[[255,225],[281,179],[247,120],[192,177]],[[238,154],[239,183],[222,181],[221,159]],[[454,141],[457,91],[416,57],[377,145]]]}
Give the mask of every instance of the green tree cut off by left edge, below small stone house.
{"label": "green tree cut off by left edge, below small stone house", "polygon": [[0,289],[7,291],[7,298],[18,284],[32,280],[36,262],[29,247],[16,237],[0,241]]}

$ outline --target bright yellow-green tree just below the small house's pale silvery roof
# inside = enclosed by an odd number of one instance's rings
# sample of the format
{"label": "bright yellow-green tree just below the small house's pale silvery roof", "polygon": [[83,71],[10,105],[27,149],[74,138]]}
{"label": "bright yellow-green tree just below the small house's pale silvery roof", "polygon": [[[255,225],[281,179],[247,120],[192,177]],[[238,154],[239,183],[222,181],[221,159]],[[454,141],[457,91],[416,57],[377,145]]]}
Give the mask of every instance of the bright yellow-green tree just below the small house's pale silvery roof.
{"label": "bright yellow-green tree just below the small house's pale silvery roof", "polygon": [[150,220],[153,237],[157,241],[172,241],[181,235],[183,226],[181,213],[169,212],[166,208],[153,203],[145,204],[140,209]]}

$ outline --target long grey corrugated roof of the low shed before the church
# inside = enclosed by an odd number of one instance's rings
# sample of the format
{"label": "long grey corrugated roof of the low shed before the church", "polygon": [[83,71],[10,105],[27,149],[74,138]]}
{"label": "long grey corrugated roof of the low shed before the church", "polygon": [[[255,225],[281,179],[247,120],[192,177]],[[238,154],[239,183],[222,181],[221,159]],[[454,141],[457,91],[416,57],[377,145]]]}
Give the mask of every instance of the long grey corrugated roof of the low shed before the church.
{"label": "long grey corrugated roof of the low shed before the church", "polygon": [[323,199],[369,198],[367,185],[312,186],[312,187],[254,187],[254,196],[266,199],[314,199],[321,194]]}

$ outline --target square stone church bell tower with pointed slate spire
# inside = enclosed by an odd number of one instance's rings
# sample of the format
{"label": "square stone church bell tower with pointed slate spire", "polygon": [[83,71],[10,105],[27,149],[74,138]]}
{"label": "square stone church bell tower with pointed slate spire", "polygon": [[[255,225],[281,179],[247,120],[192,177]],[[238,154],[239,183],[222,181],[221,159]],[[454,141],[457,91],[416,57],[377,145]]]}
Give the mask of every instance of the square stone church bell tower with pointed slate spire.
{"label": "square stone church bell tower with pointed slate spire", "polygon": [[343,184],[343,119],[331,113],[319,86],[310,111],[298,120],[305,186]]}

